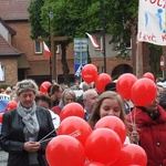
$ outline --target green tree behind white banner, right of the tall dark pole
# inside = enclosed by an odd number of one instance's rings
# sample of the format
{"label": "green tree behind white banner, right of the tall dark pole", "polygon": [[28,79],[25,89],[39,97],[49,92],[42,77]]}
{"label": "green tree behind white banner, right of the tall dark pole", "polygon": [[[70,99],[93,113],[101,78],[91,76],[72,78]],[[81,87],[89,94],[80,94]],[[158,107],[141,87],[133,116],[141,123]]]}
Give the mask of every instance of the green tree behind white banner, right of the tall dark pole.
{"label": "green tree behind white banner, right of the tall dark pole", "polygon": [[[105,15],[107,32],[113,34],[112,42],[120,43],[120,58],[128,58],[126,53],[126,41],[129,41],[132,35],[132,27],[136,28],[138,20],[138,0],[105,0]],[[159,58],[163,48],[147,43],[149,48],[149,65],[151,72],[155,76],[162,75],[159,70]]]}

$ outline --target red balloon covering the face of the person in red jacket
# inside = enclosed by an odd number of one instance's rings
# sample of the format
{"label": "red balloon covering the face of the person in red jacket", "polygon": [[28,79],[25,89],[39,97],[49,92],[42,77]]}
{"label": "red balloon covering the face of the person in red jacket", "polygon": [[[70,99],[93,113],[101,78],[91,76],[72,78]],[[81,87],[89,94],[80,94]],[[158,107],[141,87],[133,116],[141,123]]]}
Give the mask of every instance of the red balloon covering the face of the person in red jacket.
{"label": "red balloon covering the face of the person in red jacket", "polygon": [[151,104],[157,95],[157,86],[149,79],[139,79],[132,87],[132,100],[136,106]]}

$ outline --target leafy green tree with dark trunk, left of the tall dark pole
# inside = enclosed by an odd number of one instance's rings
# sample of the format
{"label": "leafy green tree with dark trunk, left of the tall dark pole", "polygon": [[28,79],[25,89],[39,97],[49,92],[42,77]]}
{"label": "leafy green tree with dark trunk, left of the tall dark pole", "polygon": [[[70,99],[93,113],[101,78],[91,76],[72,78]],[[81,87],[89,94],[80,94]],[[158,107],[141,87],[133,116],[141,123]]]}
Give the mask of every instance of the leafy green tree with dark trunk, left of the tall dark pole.
{"label": "leafy green tree with dark trunk, left of the tall dark pole", "polygon": [[[29,7],[30,22],[31,22],[31,37],[37,39],[38,37],[49,35],[49,23],[48,13],[50,10],[53,11],[54,17],[51,20],[53,28],[53,35],[68,35],[69,40],[60,42],[62,49],[62,65],[64,73],[64,83],[70,82],[69,80],[69,66],[66,63],[66,46],[74,38],[85,37],[85,32],[93,30],[86,23],[86,9],[91,4],[90,1],[68,1],[68,0],[31,0]],[[85,22],[85,23],[84,23]],[[84,25],[85,24],[85,25]],[[89,29],[86,29],[89,28]],[[86,30],[85,30],[86,29]]]}

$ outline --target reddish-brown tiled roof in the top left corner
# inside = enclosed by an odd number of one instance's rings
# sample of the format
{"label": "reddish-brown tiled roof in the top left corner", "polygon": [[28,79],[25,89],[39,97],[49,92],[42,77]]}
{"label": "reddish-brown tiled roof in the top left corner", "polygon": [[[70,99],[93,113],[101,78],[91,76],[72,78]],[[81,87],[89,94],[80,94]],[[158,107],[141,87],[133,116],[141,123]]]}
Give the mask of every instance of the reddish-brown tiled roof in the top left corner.
{"label": "reddish-brown tiled roof in the top left corner", "polygon": [[3,20],[28,20],[30,0],[0,0],[0,17]]}

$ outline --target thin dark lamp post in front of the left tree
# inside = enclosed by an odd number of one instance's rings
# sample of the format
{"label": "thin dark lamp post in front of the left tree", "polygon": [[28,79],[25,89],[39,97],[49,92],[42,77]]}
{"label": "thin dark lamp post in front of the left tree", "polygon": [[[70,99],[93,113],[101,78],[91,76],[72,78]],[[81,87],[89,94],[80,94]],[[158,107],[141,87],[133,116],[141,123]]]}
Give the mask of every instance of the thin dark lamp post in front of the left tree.
{"label": "thin dark lamp post in front of the left tree", "polygon": [[[52,30],[51,30],[51,19],[53,18],[53,11],[49,11],[48,13],[48,17],[49,17],[49,46],[50,46],[50,50],[52,50],[52,42],[51,42],[51,39],[52,39]],[[52,83],[52,52],[51,52],[51,56],[50,56],[50,82]]]}

